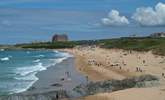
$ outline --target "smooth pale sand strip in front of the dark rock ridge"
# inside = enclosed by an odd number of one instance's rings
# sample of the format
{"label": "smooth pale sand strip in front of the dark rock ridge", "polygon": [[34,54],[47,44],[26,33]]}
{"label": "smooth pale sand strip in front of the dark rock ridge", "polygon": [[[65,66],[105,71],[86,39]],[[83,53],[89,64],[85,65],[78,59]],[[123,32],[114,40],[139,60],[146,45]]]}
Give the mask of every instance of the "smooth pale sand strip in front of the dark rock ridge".
{"label": "smooth pale sand strip in front of the dark rock ridge", "polygon": [[112,93],[100,93],[82,100],[165,100],[165,87],[132,88]]}

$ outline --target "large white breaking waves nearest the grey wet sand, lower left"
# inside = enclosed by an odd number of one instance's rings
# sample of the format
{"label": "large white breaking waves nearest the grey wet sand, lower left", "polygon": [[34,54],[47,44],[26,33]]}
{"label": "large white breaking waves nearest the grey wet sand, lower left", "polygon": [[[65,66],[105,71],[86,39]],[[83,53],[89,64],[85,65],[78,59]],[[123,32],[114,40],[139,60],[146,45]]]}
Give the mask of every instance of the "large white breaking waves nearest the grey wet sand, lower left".
{"label": "large white breaking waves nearest the grey wet sand, lower left", "polygon": [[16,74],[17,76],[14,78],[18,81],[28,82],[26,84],[22,84],[23,86],[20,88],[13,88],[10,90],[10,93],[21,93],[29,89],[39,78],[36,74],[40,71],[46,70],[46,67],[42,65],[42,63],[38,63],[34,66],[27,66],[22,68],[17,68]]}

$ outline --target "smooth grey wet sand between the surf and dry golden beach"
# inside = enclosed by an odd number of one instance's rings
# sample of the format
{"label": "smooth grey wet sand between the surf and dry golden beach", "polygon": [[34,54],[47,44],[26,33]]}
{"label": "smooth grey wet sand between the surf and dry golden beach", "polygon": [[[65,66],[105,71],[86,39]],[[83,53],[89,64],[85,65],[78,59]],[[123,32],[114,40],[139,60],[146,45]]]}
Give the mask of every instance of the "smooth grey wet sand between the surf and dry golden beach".
{"label": "smooth grey wet sand between the surf and dry golden beach", "polygon": [[[66,75],[69,73],[69,77]],[[46,93],[50,91],[66,90],[67,94],[72,97],[79,96],[72,89],[85,83],[85,77],[75,70],[74,58],[68,58],[55,66],[49,67],[47,70],[39,72],[36,75],[39,80],[23,94]]]}

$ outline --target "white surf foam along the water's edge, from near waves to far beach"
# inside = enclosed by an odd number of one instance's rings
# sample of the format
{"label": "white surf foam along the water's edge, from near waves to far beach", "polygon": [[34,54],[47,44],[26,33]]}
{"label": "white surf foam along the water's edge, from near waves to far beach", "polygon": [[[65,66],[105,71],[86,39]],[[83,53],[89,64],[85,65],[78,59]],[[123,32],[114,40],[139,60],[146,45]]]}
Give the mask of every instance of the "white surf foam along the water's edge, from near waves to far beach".
{"label": "white surf foam along the water's edge, from near waves to far beach", "polygon": [[[26,84],[23,88],[15,88],[12,90],[12,93],[20,93],[26,91],[28,88],[30,88],[37,80],[36,74],[40,71],[46,70],[47,67],[50,67],[52,65],[55,65],[57,63],[61,63],[63,60],[73,57],[69,53],[65,52],[59,52],[55,51],[55,53],[58,53],[60,55],[60,58],[56,59],[50,59],[53,60],[52,63],[49,63],[47,66],[43,66],[40,59],[34,60],[35,63],[37,63],[34,66],[26,66],[26,67],[19,67],[16,69],[16,74],[19,74],[18,77],[15,77],[17,80],[24,80],[24,81],[30,81],[30,83]],[[35,57],[44,57],[44,55],[38,55]]]}

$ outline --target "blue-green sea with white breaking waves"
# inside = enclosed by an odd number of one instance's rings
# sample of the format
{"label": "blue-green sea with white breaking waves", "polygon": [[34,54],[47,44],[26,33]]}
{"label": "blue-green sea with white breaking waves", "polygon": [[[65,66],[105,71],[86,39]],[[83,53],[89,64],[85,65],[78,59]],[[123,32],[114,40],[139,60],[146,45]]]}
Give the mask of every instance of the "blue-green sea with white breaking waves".
{"label": "blue-green sea with white breaking waves", "polygon": [[0,95],[26,91],[36,74],[71,57],[55,50],[0,50]]}

